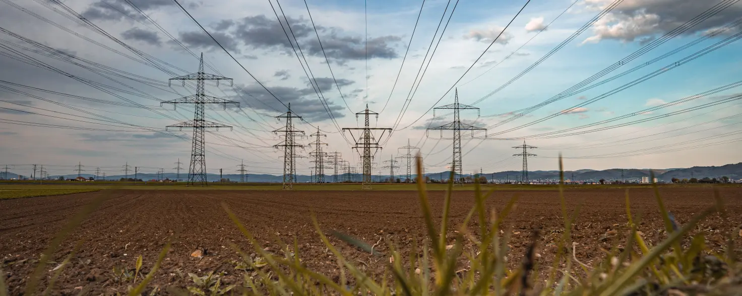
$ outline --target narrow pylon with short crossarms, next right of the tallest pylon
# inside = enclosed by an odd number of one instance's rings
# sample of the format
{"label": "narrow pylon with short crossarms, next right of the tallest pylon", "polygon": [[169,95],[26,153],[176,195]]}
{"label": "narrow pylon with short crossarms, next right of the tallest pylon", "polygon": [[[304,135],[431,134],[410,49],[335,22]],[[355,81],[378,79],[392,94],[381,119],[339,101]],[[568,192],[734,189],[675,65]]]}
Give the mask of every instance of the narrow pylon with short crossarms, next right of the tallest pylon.
{"label": "narrow pylon with short crossarms, next right of the tallest pylon", "polygon": [[299,131],[294,128],[292,119],[301,119],[301,116],[297,116],[291,111],[291,103],[289,103],[288,111],[285,114],[276,116],[276,118],[285,119],[286,126],[282,129],[273,131],[273,133],[283,133],[283,142],[273,145],[275,148],[283,147],[283,189],[294,188],[295,174],[296,174],[296,151],[295,149],[303,148],[301,144],[296,144],[296,136],[303,135],[304,131]]}

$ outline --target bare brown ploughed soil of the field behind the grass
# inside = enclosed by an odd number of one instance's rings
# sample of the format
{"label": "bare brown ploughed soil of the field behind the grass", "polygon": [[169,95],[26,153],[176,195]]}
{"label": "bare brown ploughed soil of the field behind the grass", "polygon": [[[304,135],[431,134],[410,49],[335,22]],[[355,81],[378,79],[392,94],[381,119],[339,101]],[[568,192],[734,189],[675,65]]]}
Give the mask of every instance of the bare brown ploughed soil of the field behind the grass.
{"label": "bare brown ploughed soil of the field behind the grass", "polygon": [[[707,245],[715,250],[723,246],[723,231],[742,223],[742,188],[719,188],[726,203],[729,225],[714,214],[704,220],[700,230],[708,234]],[[609,230],[625,227],[626,211],[623,189],[568,191],[565,196],[568,211],[580,206],[580,216],[574,227],[573,240],[577,257],[583,263],[597,263],[603,249],[610,249],[611,239],[601,240]],[[664,237],[651,189],[631,189],[634,215],[643,217],[639,230],[651,243]],[[713,205],[709,188],[660,188],[669,211],[677,222],[686,223],[703,208]],[[533,226],[542,228],[540,262],[554,258],[554,239],[563,229],[559,198],[555,191],[496,191],[487,208],[502,209],[513,194],[519,194],[517,208],[506,220],[513,226],[511,256],[518,262],[528,246]],[[430,192],[434,214],[440,215],[444,192]],[[413,238],[421,241],[424,224],[417,194],[414,191],[99,191],[57,197],[36,197],[0,201],[0,257],[6,273],[10,294],[21,294],[36,260],[53,236],[96,198],[104,201],[82,226],[62,243],[54,253],[53,263],[45,268],[41,286],[56,267],[82,241],[54,290],[70,295],[81,289],[90,295],[111,295],[125,292],[131,283],[117,283],[114,266],[134,268],[137,257],[144,258],[142,270],[148,272],[157,254],[173,236],[172,248],[154,277],[150,289],[160,287],[185,288],[191,285],[188,272],[203,275],[210,271],[226,272],[227,283],[240,283],[242,272],[234,269],[232,260],[239,255],[230,247],[235,243],[248,254],[254,252],[245,237],[229,220],[221,207],[225,203],[237,214],[249,231],[269,251],[279,253],[275,237],[286,242],[298,239],[298,253],[310,269],[337,278],[337,263],[315,234],[310,218],[314,211],[324,231],[341,231],[370,245],[379,237],[391,237],[400,249],[409,254]],[[459,226],[473,207],[473,193],[456,191],[451,207],[450,225]],[[452,229],[450,231],[453,234]],[[453,235],[451,235],[453,241]],[[333,244],[352,260],[368,265],[367,272],[379,277],[388,257],[372,257],[366,251],[331,238]],[[738,248],[740,244],[738,243]],[[197,249],[206,249],[202,259],[191,257]],[[385,252],[384,243],[376,247]],[[462,263],[465,264],[465,263]],[[465,266],[464,266],[465,267]],[[42,287],[39,288],[39,291]]]}

